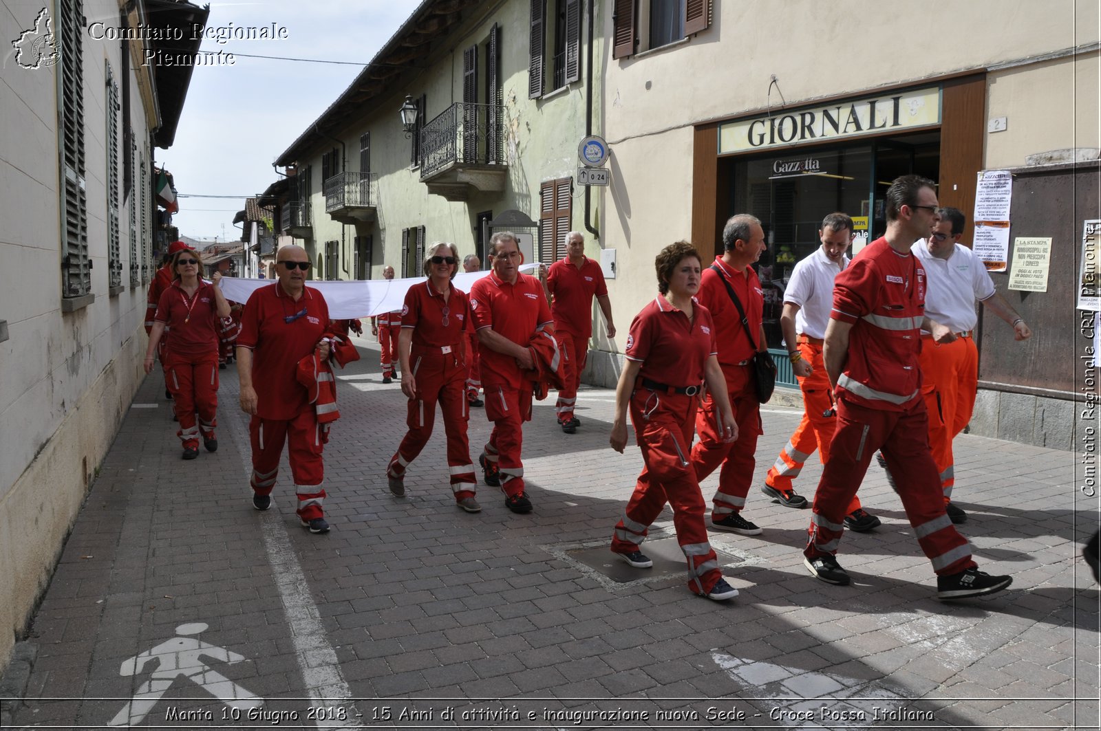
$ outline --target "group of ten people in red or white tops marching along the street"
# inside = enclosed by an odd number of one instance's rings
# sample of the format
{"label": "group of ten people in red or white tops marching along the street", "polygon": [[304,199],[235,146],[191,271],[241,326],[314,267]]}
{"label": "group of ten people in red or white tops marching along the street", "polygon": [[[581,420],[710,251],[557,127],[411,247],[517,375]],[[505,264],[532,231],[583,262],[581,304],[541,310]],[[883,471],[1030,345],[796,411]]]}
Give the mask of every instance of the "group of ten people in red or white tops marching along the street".
{"label": "group of ten people in red or white tops marching along the street", "polygon": [[[951,440],[974,404],[977,303],[1009,323],[1017,340],[1032,332],[994,292],[982,262],[959,243],[962,215],[938,207],[934,183],[903,176],[885,199],[882,238],[850,261],[852,220],[830,214],[819,231],[821,248],[799,262],[787,283],[781,323],[805,415],[762,492],[788,508],[811,508],[804,563],[818,579],[847,585],[837,548],[844,527],[879,525],[855,497],[879,451],[933,564],[938,597],[992,593],[1012,579],[979,571],[955,527],[967,514],[950,501]],[[642,543],[668,503],[688,587],[713,600],[738,590],[720,571],[708,528],[762,533],[743,511],[762,434],[755,358],[767,347],[763,292],[752,268],[766,249],[761,221],[732,217],[722,246],[707,268],[685,241],[658,253],[658,295],[631,324],[610,437],[622,452],[630,412],[644,462],[611,550],[635,568],[651,567]],[[523,255],[512,233],[495,233],[488,255],[490,272],[467,294],[453,286],[460,266],[455,244],[433,244],[424,260],[426,279],[410,287],[401,312],[372,319],[383,381],[400,378],[407,404],[408,430],[385,468],[386,483],[395,497],[406,493],[405,477],[432,435],[438,403],[456,505],[480,512],[467,423],[471,406],[484,406],[493,428],[478,457],[482,480],[502,490],[510,511],[527,513],[533,505],[521,455],[533,397],[556,389],[558,424],[576,433],[593,298],[609,338],[615,327],[600,266],[585,257],[581,234],[567,234],[567,257],[548,270],[541,265],[538,276],[520,272]],[[461,262],[467,271],[479,264],[471,257]],[[243,307],[237,360],[241,408],[252,416],[253,506],[271,506],[287,443],[297,514],[310,532],[324,533],[329,526],[321,454],[336,417],[329,361],[331,356],[342,366],[357,356],[347,324],[331,321],[324,296],[305,285],[308,270],[305,250],[279,250],[277,281],[257,290]],[[218,324],[230,314],[219,274],[206,283],[198,272],[194,251],[173,252],[172,282],[156,301],[145,359],[150,372],[162,335],[171,331],[160,351],[186,459],[198,455],[199,436],[208,450],[217,448]],[[392,279],[393,269],[385,275]],[[793,480],[816,449],[825,469],[808,503]],[[717,469],[706,521],[699,483]]]}

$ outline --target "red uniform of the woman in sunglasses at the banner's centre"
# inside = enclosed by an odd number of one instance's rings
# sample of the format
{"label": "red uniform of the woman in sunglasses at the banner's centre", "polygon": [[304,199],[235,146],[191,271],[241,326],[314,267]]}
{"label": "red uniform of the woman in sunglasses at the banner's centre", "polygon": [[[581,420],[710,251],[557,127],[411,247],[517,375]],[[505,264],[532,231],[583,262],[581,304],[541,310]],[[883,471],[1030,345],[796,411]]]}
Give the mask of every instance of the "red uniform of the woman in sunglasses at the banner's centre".
{"label": "red uniform of the woman in sunglasses at the banner's centre", "polygon": [[467,366],[462,359],[462,340],[470,330],[469,313],[465,292],[451,287],[445,303],[444,295],[436,291],[430,280],[414,284],[405,294],[402,328],[413,330],[410,370],[415,379],[416,395],[408,400],[405,424],[410,430],[391,457],[386,470],[391,477],[405,476],[405,468],[416,459],[432,436],[438,401],[447,434],[451,491],[457,501],[472,498],[477,483],[467,440],[470,414],[465,394]]}

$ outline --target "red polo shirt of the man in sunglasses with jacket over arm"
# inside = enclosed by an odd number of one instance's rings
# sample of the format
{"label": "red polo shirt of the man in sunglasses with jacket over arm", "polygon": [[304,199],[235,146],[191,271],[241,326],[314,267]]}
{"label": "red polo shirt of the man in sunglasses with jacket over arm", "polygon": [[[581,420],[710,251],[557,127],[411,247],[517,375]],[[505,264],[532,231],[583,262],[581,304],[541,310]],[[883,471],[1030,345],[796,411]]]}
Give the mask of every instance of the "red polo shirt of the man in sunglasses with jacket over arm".
{"label": "red polo shirt of the man in sunglasses with jacket over arm", "polygon": [[[295,317],[305,309],[305,314]],[[291,323],[286,318],[294,317]],[[237,345],[252,350],[252,386],[260,418],[288,421],[309,405],[306,386],[298,383],[298,361],[314,352],[329,323],[321,293],[305,287],[298,302],[279,282],[260,287],[241,315]]]}

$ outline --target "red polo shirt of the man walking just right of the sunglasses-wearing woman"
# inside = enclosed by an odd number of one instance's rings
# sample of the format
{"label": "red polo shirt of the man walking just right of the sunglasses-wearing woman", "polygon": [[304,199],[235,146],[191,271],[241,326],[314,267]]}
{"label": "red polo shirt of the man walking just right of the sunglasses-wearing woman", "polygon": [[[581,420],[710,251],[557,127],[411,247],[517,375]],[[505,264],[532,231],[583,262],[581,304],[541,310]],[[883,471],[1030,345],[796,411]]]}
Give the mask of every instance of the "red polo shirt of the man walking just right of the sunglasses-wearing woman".
{"label": "red polo shirt of the man walking just right of the sunglasses-wearing woman", "polygon": [[[495,272],[475,282],[470,287],[470,313],[475,329],[492,328],[494,332],[524,347],[535,335],[536,328],[554,324],[543,285],[534,276],[519,273],[513,284],[499,280]],[[528,386],[521,377],[515,358],[487,347],[478,352],[484,385],[513,389]]]}

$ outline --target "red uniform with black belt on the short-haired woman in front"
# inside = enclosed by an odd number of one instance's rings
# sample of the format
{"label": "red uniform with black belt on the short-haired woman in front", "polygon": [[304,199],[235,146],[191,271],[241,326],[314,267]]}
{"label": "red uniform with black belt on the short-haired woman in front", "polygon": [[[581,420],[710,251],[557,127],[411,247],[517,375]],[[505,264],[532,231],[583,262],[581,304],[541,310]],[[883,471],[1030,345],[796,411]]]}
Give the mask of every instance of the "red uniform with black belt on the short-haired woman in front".
{"label": "red uniform with black belt on the short-haired woman in front", "polygon": [[671,390],[698,388],[705,363],[716,352],[711,314],[698,304],[694,314],[689,320],[658,296],[631,323],[624,354],[642,363],[631,394],[631,423],[645,466],[623,517],[615,524],[611,549],[619,554],[639,550],[650,525],[668,502],[677,543],[688,563],[688,588],[708,594],[722,574],[708,542],[704,524],[707,505],[689,460],[698,390]]}

